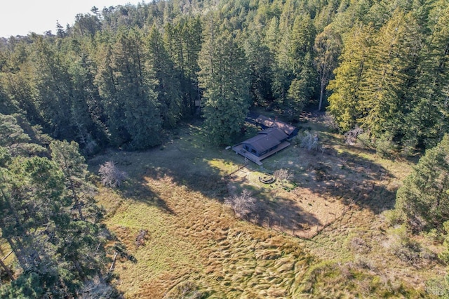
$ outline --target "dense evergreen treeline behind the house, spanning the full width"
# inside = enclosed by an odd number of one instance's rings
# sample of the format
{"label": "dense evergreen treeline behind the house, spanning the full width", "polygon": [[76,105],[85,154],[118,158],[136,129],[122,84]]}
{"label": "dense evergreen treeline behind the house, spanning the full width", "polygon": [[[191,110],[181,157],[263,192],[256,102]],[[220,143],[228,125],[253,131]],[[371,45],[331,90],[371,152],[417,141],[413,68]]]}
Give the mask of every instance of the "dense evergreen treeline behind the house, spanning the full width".
{"label": "dense evergreen treeline behind the house, spanning the full width", "polygon": [[[181,119],[229,142],[251,105],[404,150],[448,132],[444,0],[157,1],[93,8],[55,35],[4,39],[0,112],[86,154],[144,149]],[[200,107],[201,105],[201,107]]]}

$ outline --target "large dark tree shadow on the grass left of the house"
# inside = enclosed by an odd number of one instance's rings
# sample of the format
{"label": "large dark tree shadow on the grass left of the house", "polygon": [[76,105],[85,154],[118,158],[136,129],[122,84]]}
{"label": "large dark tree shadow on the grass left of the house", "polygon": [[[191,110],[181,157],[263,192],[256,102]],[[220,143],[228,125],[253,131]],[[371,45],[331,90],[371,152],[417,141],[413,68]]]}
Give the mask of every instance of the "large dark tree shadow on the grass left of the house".
{"label": "large dark tree shadow on the grass left of the house", "polygon": [[[117,168],[128,174],[128,179],[119,187],[124,198],[158,206],[166,213],[174,213],[161,197],[154,180],[166,180],[171,184],[185,186],[191,192],[223,201],[227,197],[227,182],[220,169],[210,166],[209,161],[220,157],[220,149],[208,145],[200,133],[201,128],[189,126],[172,136],[172,140],[161,147],[145,152],[108,150],[106,154],[91,159],[89,164],[94,173],[105,161],[116,162]],[[161,186],[159,186],[161,188]]]}

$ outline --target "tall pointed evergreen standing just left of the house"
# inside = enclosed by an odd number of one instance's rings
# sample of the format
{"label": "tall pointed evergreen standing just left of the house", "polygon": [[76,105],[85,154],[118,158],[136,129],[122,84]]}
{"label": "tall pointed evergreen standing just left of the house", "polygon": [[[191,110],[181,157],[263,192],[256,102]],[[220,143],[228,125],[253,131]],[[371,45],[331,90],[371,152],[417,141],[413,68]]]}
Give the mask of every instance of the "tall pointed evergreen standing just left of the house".
{"label": "tall pointed evergreen standing just left of the house", "polygon": [[241,130],[250,106],[244,53],[229,32],[210,22],[199,63],[208,135],[215,144],[227,144]]}

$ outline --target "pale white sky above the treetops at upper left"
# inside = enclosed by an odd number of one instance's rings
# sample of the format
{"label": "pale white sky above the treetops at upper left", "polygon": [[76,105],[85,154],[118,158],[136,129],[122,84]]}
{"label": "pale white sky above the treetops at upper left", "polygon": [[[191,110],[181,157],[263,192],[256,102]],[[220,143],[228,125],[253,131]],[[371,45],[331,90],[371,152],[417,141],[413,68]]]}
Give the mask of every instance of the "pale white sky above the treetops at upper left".
{"label": "pale white sky above the treetops at upper left", "polygon": [[[43,34],[47,30],[56,33],[56,20],[65,28],[73,25],[75,15],[90,13],[96,6],[138,4],[141,0],[6,0],[0,4],[0,37]],[[148,2],[148,1],[147,1]]]}

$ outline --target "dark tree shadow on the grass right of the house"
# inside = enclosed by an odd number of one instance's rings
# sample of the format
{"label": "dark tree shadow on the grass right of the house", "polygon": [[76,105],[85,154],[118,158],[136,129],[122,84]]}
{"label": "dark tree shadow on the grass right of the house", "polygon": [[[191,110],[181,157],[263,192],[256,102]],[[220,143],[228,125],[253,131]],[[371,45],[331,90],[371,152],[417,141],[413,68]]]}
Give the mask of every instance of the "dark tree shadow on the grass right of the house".
{"label": "dark tree shadow on the grass right of the house", "polygon": [[284,163],[295,173],[294,181],[314,194],[357,204],[375,214],[394,207],[397,187],[390,184],[394,175],[381,164],[332,150],[322,154],[296,148],[292,156],[295,159]]}

